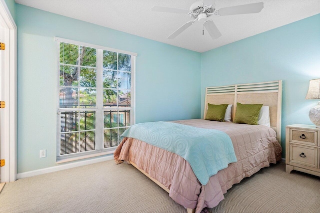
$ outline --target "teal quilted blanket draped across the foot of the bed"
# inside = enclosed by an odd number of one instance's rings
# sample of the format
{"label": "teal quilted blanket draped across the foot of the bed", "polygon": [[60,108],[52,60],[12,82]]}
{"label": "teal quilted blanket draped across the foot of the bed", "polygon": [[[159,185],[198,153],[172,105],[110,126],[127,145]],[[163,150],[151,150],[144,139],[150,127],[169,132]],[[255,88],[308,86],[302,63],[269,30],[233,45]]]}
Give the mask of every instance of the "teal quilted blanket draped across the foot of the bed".
{"label": "teal quilted blanket draped across the foot of the bed", "polygon": [[158,121],[132,125],[121,137],[135,138],[181,156],[202,185],[236,162],[230,137],[219,130]]}

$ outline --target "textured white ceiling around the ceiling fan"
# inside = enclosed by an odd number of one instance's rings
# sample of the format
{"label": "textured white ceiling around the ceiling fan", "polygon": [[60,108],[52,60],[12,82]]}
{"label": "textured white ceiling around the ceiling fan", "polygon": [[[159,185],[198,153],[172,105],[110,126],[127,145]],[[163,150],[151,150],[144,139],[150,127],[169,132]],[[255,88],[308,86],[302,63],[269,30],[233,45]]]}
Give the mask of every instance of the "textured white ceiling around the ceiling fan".
{"label": "textured white ceiling around the ceiling fan", "polygon": [[15,0],[16,3],[197,52],[207,50],[320,13],[320,0],[215,0],[217,8],[264,2],[259,13],[211,16],[222,36],[212,40],[195,22],[174,39],[166,37],[189,20],[186,14],[152,12],[151,7],[189,9],[196,0]]}

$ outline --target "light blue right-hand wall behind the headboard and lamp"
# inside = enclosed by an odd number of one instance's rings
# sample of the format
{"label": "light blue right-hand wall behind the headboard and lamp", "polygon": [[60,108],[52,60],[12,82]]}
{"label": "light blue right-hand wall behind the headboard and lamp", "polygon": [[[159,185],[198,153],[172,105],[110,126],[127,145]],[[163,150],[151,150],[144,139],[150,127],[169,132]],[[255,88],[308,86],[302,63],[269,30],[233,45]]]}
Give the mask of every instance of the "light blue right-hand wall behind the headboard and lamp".
{"label": "light blue right-hand wall behind the headboard and lamp", "polygon": [[308,111],[317,101],[304,98],[314,78],[320,78],[320,14],[202,53],[201,115],[207,86],[282,80],[285,149],[286,125],[312,124]]}

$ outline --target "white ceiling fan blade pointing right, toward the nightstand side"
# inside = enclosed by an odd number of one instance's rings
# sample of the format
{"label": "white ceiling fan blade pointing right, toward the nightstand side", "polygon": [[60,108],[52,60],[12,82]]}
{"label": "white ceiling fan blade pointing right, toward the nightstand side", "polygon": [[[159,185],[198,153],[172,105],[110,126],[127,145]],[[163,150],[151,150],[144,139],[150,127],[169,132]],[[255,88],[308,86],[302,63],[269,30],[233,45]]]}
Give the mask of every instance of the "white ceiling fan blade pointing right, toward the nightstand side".
{"label": "white ceiling fan blade pointing right, toward the nightstand side", "polygon": [[228,6],[219,9],[218,15],[236,15],[246,13],[260,12],[263,8],[263,2],[249,3],[237,6]]}

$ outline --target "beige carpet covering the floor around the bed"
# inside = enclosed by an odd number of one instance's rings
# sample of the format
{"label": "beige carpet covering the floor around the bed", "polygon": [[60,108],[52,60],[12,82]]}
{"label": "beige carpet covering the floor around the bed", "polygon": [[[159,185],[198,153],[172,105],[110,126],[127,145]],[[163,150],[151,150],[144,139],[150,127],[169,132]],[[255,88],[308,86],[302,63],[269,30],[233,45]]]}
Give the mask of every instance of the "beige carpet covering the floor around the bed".
{"label": "beige carpet covering the floor around the bed", "polygon": [[[106,161],[7,183],[1,213],[185,213],[131,165]],[[320,178],[264,168],[234,185],[209,213],[320,213]]]}

